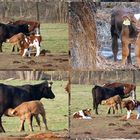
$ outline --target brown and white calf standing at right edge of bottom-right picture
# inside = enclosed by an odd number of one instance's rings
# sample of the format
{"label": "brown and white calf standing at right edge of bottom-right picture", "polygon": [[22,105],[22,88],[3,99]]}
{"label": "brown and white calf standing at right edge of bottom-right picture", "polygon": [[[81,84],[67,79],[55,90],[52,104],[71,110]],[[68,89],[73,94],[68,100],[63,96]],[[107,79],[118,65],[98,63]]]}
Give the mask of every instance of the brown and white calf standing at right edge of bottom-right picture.
{"label": "brown and white calf standing at right edge of bottom-right picture", "polygon": [[140,118],[140,101],[126,100],[122,101],[122,107],[127,109],[127,119],[130,118],[131,112],[135,109],[137,111],[137,119]]}

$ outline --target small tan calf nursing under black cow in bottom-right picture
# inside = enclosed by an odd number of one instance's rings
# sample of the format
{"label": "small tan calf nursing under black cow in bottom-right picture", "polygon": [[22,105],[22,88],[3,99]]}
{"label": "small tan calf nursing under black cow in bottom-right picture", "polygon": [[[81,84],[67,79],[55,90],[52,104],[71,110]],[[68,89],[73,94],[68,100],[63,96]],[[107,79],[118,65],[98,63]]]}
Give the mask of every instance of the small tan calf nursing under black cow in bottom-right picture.
{"label": "small tan calf nursing under black cow in bottom-right picture", "polygon": [[107,100],[103,100],[102,104],[109,105],[108,114],[110,114],[111,108],[113,109],[113,114],[115,114],[115,110],[117,110],[117,113],[118,113],[118,105],[122,112],[121,101],[122,101],[121,97],[119,95],[116,95],[116,96],[110,97]]}

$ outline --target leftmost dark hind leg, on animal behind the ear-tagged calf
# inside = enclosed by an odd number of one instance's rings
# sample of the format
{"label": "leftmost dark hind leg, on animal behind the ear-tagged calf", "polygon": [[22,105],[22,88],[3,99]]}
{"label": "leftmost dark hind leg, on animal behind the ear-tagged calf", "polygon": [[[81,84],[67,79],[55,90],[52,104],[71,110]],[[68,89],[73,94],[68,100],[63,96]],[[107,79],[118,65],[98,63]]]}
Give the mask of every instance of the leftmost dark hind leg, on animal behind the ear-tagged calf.
{"label": "leftmost dark hind leg, on animal behind the ear-tagged calf", "polygon": [[118,37],[114,35],[112,37],[112,52],[114,55],[114,61],[117,61],[117,54],[118,54]]}

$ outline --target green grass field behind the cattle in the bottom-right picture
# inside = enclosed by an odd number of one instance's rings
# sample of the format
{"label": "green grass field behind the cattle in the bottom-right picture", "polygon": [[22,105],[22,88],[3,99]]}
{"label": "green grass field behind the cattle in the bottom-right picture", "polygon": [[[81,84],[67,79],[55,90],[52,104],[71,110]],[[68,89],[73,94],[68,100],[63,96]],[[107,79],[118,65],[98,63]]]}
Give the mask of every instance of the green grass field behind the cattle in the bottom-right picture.
{"label": "green grass field behind the cattle in the bottom-right picture", "polygon": [[[78,84],[72,85],[71,114],[73,114],[75,111],[78,111],[84,108],[93,109],[92,92],[91,92],[92,87],[93,85],[78,85]],[[137,86],[136,88],[137,100],[140,100],[139,92],[140,92],[140,86]],[[98,107],[99,115],[97,116],[107,116],[107,109],[108,109],[108,106],[99,105]],[[92,110],[92,115],[95,116],[94,110]],[[126,109],[123,109],[123,114],[119,112],[118,115],[126,115]]]}

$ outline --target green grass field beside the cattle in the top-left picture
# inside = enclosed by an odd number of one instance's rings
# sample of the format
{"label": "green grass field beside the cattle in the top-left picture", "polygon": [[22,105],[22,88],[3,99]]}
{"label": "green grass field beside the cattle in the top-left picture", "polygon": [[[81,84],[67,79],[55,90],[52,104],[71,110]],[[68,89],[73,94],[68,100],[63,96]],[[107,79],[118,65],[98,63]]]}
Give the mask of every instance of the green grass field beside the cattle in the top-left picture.
{"label": "green grass field beside the cattle in the top-left picture", "polygon": [[[40,32],[42,35],[41,49],[52,53],[68,52],[68,25],[60,23],[42,23]],[[3,43],[3,51],[11,53],[10,43]]]}

